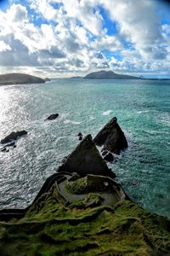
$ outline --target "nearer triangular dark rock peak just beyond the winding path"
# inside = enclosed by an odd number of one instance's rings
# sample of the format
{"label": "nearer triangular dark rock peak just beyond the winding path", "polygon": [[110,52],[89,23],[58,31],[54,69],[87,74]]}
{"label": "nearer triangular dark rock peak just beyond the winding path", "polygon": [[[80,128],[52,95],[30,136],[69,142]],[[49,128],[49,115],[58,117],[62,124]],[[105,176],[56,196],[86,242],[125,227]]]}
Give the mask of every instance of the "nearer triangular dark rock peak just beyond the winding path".
{"label": "nearer triangular dark rock peak just beyond the winding path", "polygon": [[114,173],[107,167],[105,160],[95,147],[92,136],[84,137],[77,148],[67,157],[65,163],[59,166],[58,172],[77,172],[81,177],[87,174],[114,177]]}

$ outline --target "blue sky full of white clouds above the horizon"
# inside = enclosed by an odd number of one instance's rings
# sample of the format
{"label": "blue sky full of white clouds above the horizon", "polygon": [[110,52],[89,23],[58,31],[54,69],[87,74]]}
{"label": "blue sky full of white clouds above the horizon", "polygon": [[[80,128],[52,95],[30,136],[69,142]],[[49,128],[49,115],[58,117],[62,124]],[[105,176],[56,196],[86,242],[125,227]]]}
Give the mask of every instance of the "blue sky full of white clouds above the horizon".
{"label": "blue sky full of white clouds above the horizon", "polygon": [[168,1],[0,0],[0,73],[99,70],[170,78]]}

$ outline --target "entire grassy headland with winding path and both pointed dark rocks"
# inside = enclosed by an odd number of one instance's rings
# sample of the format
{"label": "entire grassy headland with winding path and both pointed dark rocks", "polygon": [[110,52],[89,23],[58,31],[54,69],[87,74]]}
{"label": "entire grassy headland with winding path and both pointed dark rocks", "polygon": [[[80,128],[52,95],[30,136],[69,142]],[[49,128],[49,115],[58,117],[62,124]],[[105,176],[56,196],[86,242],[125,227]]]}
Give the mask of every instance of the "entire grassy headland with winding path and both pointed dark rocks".
{"label": "entire grassy headland with winding path and both pointed dark rocks", "polygon": [[0,211],[1,255],[169,255],[170,220],[128,197],[96,145],[127,148],[116,118],[82,139],[31,206]]}

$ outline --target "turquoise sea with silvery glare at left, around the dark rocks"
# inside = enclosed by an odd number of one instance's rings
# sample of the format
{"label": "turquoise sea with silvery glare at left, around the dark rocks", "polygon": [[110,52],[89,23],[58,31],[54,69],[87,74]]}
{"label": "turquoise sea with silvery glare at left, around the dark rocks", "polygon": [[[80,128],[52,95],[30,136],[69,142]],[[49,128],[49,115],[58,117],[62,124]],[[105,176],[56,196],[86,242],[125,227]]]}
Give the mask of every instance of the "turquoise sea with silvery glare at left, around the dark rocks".
{"label": "turquoise sea with silvery glare at left, around the dark rocks", "polygon": [[[1,86],[0,138],[23,129],[28,136],[0,153],[0,207],[26,207],[77,146],[77,133],[94,136],[116,116],[129,147],[112,170],[133,201],[170,217],[169,96],[170,82],[153,80],[55,79]],[[59,118],[44,121],[51,113]]]}

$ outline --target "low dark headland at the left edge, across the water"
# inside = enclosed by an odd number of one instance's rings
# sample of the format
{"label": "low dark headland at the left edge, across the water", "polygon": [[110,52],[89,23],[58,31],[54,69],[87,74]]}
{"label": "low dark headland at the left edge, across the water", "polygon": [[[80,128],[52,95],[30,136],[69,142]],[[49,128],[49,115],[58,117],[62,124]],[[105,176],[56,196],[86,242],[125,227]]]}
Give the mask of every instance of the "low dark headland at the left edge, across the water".
{"label": "low dark headland at the left edge, across the water", "polygon": [[24,73],[7,73],[0,75],[0,85],[9,84],[41,84],[49,79],[40,79]]}

